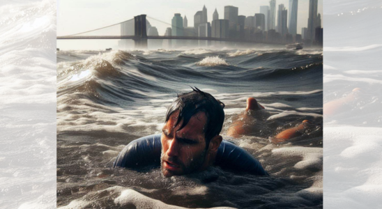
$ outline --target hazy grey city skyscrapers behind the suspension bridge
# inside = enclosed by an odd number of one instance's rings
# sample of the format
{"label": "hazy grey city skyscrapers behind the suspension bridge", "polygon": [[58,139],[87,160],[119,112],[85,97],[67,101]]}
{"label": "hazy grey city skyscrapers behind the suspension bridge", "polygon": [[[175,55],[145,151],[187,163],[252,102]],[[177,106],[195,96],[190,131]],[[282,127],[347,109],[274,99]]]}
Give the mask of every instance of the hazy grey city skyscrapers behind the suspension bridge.
{"label": "hazy grey city skyscrapers behind the suspension bridge", "polygon": [[[253,16],[239,15],[239,8],[235,6],[224,6],[224,14],[217,13],[215,8],[213,20],[210,22],[208,22],[208,8],[204,6],[194,14],[193,25],[188,24],[190,17],[175,13],[171,27],[166,29],[165,34],[159,34],[158,29],[148,20],[146,20],[146,31],[147,36],[230,38],[280,45],[300,42],[308,47],[322,47],[323,29],[321,14],[317,13],[317,8],[318,0],[310,0],[308,24],[300,31],[297,29],[298,0],[289,0],[289,8],[284,4],[276,5],[276,0],[270,0],[269,5],[260,6],[260,13],[255,13]],[[121,24],[121,36],[133,36],[134,27],[134,22]],[[148,40],[149,48],[207,47],[226,44],[214,40]],[[130,48],[132,45],[134,45],[132,40],[119,41],[121,48]]]}

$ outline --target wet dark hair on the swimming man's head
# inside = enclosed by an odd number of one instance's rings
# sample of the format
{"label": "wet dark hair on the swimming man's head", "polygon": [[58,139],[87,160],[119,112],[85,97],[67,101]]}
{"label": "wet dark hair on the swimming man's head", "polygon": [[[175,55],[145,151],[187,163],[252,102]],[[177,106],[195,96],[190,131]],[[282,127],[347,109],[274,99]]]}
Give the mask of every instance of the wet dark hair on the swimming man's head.
{"label": "wet dark hair on the swimming man's head", "polygon": [[194,87],[189,93],[178,94],[178,98],[176,98],[167,109],[165,123],[169,121],[171,114],[175,111],[179,111],[178,121],[176,121],[174,126],[178,125],[183,119],[183,124],[179,128],[179,130],[181,130],[188,124],[188,121],[190,121],[190,118],[194,114],[197,114],[199,111],[204,112],[207,116],[207,123],[204,130],[207,149],[211,139],[219,135],[222,131],[224,107],[225,104],[223,102],[216,100],[211,94],[200,91],[199,88]]}

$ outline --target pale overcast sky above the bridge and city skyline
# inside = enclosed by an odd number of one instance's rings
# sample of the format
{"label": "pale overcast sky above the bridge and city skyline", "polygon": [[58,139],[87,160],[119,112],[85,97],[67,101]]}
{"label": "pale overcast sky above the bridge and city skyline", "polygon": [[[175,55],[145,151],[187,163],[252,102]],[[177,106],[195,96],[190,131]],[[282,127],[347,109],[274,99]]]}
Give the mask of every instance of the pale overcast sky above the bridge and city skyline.
{"label": "pale overcast sky above the bridge and city skyline", "polygon": [[[276,0],[276,10],[281,3],[289,9],[289,0]],[[269,0],[57,0],[57,36],[97,29],[142,14],[171,24],[174,13],[181,13],[182,17],[187,16],[188,26],[193,26],[194,14],[204,5],[208,11],[208,22],[211,22],[215,8],[219,19],[224,19],[224,6],[238,7],[238,15],[253,16],[254,13],[259,13],[260,6],[269,6]],[[309,0],[298,1],[298,33],[301,33],[301,28],[307,27],[308,8]],[[318,13],[321,13],[321,17],[322,10],[322,0],[319,0]],[[150,19],[148,21],[158,28],[160,36],[164,35],[169,27]]]}

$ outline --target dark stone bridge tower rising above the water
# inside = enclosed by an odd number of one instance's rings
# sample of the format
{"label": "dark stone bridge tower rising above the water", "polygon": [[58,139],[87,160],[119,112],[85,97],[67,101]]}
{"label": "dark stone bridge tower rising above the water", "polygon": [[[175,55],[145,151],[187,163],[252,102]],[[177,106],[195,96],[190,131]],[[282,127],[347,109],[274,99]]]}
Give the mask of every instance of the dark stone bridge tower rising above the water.
{"label": "dark stone bridge tower rising above the water", "polygon": [[134,17],[135,25],[135,48],[147,49],[146,15]]}

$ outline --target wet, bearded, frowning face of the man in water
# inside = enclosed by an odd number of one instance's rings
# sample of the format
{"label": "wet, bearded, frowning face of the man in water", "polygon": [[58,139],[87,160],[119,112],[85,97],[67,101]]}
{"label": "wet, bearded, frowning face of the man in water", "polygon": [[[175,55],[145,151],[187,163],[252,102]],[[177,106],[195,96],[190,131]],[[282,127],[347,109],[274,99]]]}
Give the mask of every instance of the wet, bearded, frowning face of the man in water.
{"label": "wet, bearded, frowning face of the man in water", "polygon": [[183,120],[176,124],[176,111],[162,129],[161,168],[164,176],[179,176],[201,169],[206,160],[204,127],[207,117],[204,112],[194,114],[181,130]]}

